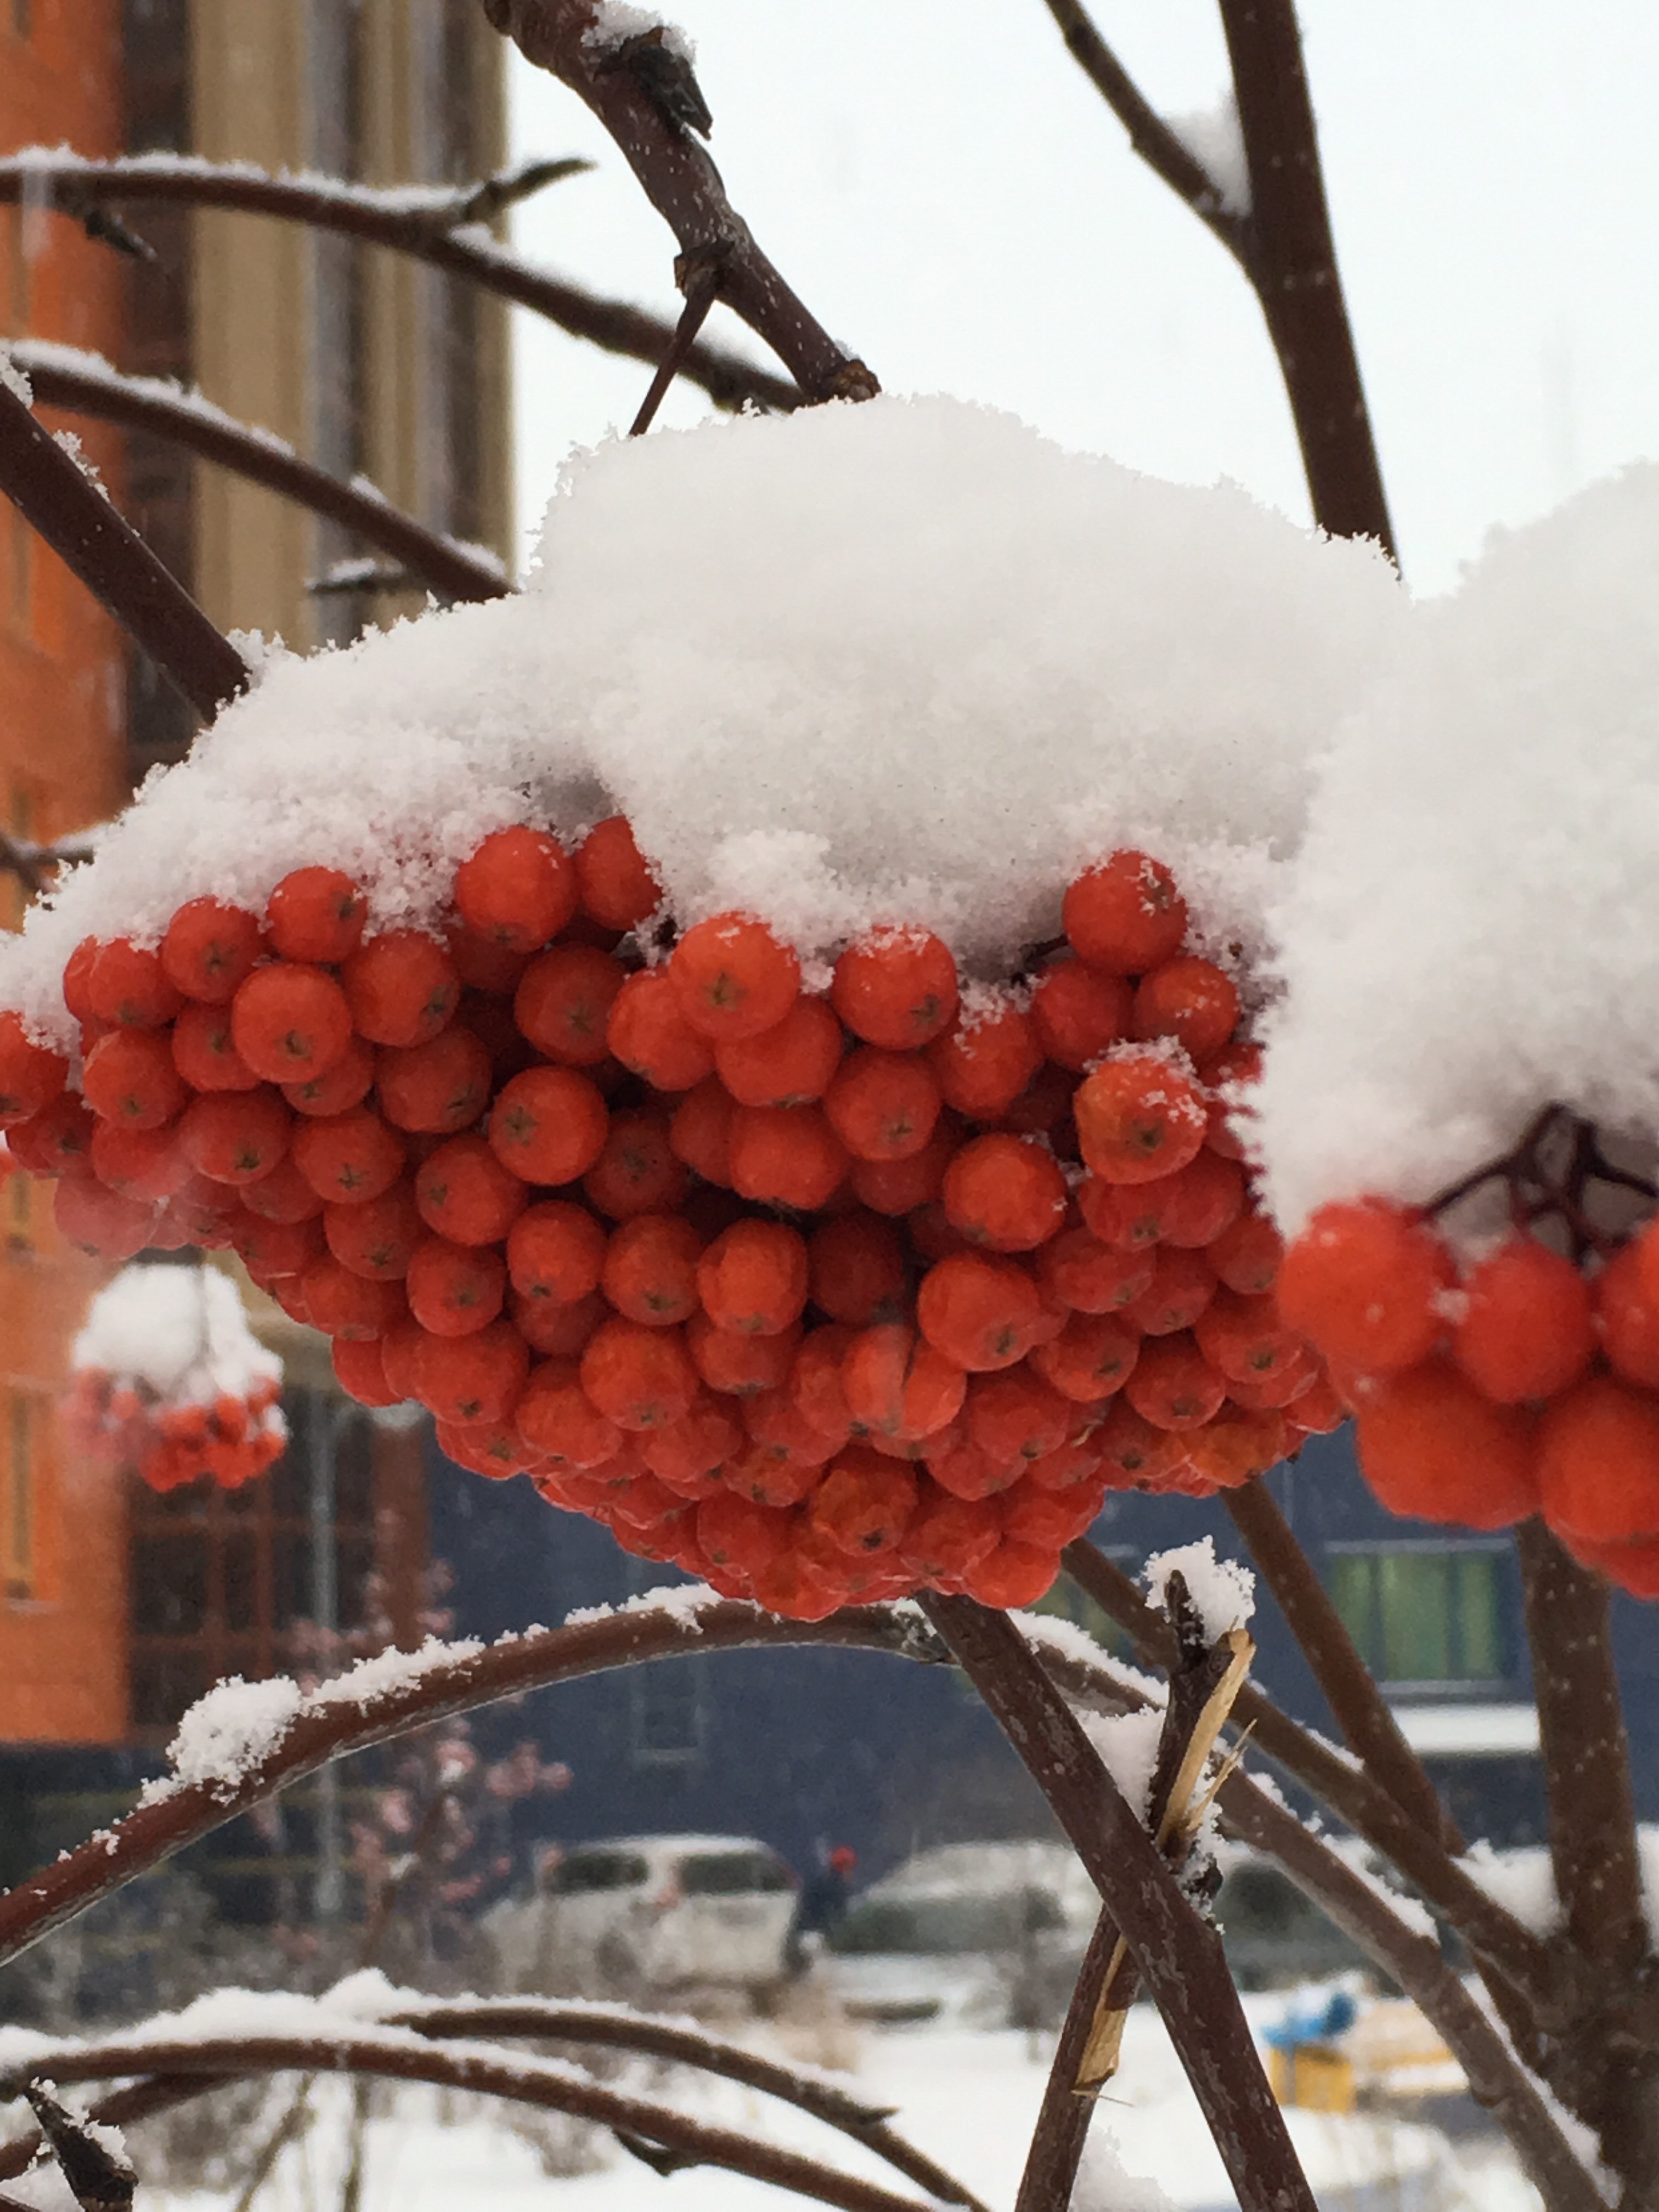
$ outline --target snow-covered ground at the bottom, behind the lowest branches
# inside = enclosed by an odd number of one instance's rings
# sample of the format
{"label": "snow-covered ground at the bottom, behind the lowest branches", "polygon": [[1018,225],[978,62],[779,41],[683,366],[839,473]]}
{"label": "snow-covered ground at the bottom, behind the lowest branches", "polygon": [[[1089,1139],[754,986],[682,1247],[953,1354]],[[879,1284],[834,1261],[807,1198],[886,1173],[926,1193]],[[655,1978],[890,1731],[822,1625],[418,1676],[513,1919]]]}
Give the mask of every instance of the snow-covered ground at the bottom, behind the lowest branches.
{"label": "snow-covered ground at the bottom, behind the lowest branches", "polygon": [[[1283,2000],[1252,2000],[1272,2020]],[[914,2143],[975,2188],[995,2212],[1013,2203],[1026,2135],[1046,2070],[1046,2046],[1020,2033],[958,2028],[832,2031],[812,2048],[799,2035],[772,2048],[790,2057],[852,2062],[860,2093],[898,2106],[894,2121]],[[639,2077],[639,2088],[690,2104],[686,2077]],[[341,2152],[349,2090],[323,2084],[316,2126],[288,2154],[263,2212],[325,2212],[341,2203]],[[914,2194],[889,2168],[858,2152],[845,2137],[783,2110],[743,2088],[721,2084],[697,2095],[710,2119],[765,2130],[803,2152],[869,2174]],[[1537,2197],[1491,2137],[1449,2143],[1433,2128],[1391,2117],[1290,2112],[1292,2135],[1307,2177],[1329,2212],[1535,2212]],[[1121,2212],[1148,2203],[1124,2185],[1126,2174],[1161,2185],[1179,2212],[1219,2212],[1234,2203],[1221,2163],[1192,2104],[1168,2039],[1148,2006],[1139,2006],[1126,2037],[1124,2073],[1095,2119],[1093,2179],[1079,2190],[1079,2212]],[[1115,2152],[1115,2159],[1113,2159]],[[44,2190],[38,2203],[58,2203]],[[1155,2201],[1155,2199],[1150,2199]],[[168,2194],[139,2190],[137,2212],[226,2212],[230,2192]],[[363,2212],[765,2212],[783,2199],[759,2183],[717,2170],[690,2170],[659,2181],[619,2150],[599,2172],[549,2177],[538,2152],[482,2104],[400,2093],[394,2110],[369,2124]]]}

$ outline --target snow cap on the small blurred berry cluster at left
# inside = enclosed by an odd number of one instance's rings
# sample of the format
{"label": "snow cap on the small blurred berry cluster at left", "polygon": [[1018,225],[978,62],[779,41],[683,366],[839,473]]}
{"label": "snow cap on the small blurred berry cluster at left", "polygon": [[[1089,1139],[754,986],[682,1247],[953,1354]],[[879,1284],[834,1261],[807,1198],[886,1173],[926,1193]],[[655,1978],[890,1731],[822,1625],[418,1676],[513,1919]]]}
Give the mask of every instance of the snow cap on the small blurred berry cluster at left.
{"label": "snow cap on the small blurred berry cluster at left", "polygon": [[131,1265],[100,1290],[75,1338],[73,1371],[144,1383],[170,1405],[248,1398],[281,1383],[283,1363],[254,1340],[237,1285],[212,1267]]}

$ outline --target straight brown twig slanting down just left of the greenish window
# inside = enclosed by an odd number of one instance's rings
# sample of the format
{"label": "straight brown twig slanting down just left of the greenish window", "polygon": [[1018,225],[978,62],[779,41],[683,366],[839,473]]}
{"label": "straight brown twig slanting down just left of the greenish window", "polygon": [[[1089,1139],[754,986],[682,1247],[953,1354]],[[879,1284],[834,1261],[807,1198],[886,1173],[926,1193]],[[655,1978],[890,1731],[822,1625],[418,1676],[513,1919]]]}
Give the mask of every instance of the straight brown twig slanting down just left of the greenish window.
{"label": "straight brown twig slanting down just left of the greenish window", "polygon": [[1267,1484],[1248,1482],[1239,1491],[1223,1491],[1221,1502],[1279,1601],[1285,1626],[1296,1637],[1347,1747],[1411,1820],[1438,1836],[1453,1856],[1462,1851],[1462,1836],[1440,1803],[1440,1792],[1405,1741],[1389,1701],[1354,1648],[1343,1615],[1332,1604],[1290,1522],[1274,1504]]}

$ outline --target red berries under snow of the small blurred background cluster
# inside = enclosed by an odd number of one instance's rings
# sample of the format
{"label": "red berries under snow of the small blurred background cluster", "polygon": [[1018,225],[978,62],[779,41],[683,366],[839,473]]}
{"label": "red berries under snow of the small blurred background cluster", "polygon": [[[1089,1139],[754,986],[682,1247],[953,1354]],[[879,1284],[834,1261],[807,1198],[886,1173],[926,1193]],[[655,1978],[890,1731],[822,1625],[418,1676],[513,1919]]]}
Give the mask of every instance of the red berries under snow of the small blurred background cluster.
{"label": "red berries under snow of the small blurred background cluster", "polygon": [[64,1420],[82,1451],[137,1469],[153,1491],[177,1491],[201,1475],[234,1491],[283,1455],[288,1425],[276,1398],[274,1383],[254,1380],[246,1398],[170,1405],[144,1383],[80,1367]]}

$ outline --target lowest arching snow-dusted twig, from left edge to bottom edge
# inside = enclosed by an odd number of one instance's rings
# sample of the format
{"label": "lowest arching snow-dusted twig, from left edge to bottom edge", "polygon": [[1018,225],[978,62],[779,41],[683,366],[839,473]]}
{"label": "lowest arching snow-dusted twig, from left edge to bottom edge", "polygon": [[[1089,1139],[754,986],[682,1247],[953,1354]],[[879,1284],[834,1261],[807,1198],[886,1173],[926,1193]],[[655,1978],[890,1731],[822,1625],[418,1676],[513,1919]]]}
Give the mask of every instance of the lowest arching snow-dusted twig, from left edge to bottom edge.
{"label": "lowest arching snow-dusted twig, from left edge to bottom edge", "polygon": [[[719,2166],[774,2188],[794,2190],[841,2212],[925,2212],[914,2197],[896,2197],[874,2181],[821,2166],[794,2150],[779,2150],[734,2128],[690,2119],[672,2106],[628,2097],[584,2079],[555,2059],[504,2057],[476,2044],[422,2044],[347,2026],[319,2035],[226,2035],[199,2042],[66,2044],[42,2053],[29,2075],[53,2081],[108,2081],[139,2073],[210,2075],[215,2081],[261,2073],[378,2075],[389,2081],[427,2081],[436,2088],[507,2097],[544,2112],[571,2112],[602,2128],[626,2128],[648,2143],[681,2150],[699,2166]],[[15,2075],[15,2068],[13,2068]],[[22,2084],[20,2084],[22,2086]]]}

